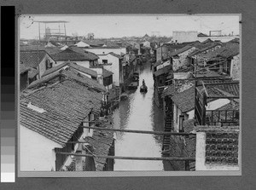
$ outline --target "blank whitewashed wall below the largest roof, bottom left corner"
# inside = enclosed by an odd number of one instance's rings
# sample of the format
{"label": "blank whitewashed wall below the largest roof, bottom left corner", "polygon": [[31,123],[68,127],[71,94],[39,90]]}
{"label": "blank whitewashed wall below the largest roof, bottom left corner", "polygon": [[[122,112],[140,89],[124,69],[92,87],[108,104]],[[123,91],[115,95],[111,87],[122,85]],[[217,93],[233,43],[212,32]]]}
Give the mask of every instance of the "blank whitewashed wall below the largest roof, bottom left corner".
{"label": "blank whitewashed wall below the largest roof, bottom left corner", "polygon": [[20,170],[55,170],[55,147],[61,145],[20,125]]}

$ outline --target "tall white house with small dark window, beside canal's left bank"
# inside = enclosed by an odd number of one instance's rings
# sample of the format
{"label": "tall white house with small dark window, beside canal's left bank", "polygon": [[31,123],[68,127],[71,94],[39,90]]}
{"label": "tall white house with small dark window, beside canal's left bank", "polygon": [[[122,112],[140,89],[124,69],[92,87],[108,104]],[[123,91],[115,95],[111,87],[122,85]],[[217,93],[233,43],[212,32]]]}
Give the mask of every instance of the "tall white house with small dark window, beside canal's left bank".
{"label": "tall white house with small dark window, beside canal's left bank", "polygon": [[102,65],[103,68],[109,72],[113,72],[113,84],[119,86],[123,81],[123,66],[121,55],[116,55],[113,52],[108,53],[107,55],[97,55],[99,57],[98,64]]}

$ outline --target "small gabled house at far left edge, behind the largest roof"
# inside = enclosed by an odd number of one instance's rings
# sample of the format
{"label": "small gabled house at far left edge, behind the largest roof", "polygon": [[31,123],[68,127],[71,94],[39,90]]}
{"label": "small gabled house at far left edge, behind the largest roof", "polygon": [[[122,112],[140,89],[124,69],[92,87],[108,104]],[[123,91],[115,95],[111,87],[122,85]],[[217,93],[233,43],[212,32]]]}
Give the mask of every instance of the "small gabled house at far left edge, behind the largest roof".
{"label": "small gabled house at far left edge, behind the largest roof", "polygon": [[38,70],[36,78],[41,78],[46,70],[56,64],[53,57],[44,50],[20,51],[20,61],[24,66],[32,68],[32,76],[36,73],[33,71]]}

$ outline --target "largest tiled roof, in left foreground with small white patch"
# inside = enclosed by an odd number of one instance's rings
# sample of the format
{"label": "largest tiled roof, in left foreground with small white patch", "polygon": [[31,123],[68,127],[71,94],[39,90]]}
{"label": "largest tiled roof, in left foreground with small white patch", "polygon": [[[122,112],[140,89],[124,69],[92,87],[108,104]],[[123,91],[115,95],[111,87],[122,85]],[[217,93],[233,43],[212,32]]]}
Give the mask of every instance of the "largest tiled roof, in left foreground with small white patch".
{"label": "largest tiled roof, in left foreground with small white patch", "polygon": [[[92,108],[100,112],[101,100],[101,93],[67,79],[23,97],[20,124],[64,147]],[[28,108],[29,102],[46,112]]]}

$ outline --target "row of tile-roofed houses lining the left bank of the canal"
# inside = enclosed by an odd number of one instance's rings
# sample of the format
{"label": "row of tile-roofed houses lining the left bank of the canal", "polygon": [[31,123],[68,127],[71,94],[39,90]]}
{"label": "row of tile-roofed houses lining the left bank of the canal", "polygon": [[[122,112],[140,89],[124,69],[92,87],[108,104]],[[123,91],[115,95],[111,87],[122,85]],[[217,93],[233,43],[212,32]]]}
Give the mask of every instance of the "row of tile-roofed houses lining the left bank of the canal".
{"label": "row of tile-roofed houses lining the left bank of the canal", "polygon": [[20,170],[113,170],[96,157],[113,155],[113,132],[88,127],[112,128],[136,66],[125,48],[20,46]]}

